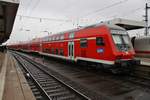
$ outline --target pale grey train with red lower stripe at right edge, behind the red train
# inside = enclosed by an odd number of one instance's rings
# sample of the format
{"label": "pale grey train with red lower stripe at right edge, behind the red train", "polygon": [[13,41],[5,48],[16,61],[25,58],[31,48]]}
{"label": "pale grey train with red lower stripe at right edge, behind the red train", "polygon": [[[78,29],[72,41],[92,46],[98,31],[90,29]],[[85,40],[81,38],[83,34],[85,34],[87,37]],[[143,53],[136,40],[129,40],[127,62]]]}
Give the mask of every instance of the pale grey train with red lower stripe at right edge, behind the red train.
{"label": "pale grey train with red lower stripe at right edge, behind the red train", "polygon": [[132,44],[136,56],[150,58],[150,36],[133,37]]}

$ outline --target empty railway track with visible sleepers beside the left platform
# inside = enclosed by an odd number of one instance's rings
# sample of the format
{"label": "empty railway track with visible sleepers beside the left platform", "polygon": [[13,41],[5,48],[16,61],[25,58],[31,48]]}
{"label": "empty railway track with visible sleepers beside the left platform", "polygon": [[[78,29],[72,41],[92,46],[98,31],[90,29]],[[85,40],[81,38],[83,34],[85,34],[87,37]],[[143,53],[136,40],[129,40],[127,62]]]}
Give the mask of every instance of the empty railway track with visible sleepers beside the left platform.
{"label": "empty railway track with visible sleepers beside the left platform", "polygon": [[[32,63],[27,58],[22,58],[17,54],[13,55],[34,80],[34,83],[31,82],[30,85],[34,88],[34,84],[37,84],[40,88],[40,92],[44,95],[43,100],[45,98],[47,100],[90,100],[87,96],[49,74],[38,64]],[[37,89],[34,90],[36,91]],[[37,95],[43,98],[39,93]]]}

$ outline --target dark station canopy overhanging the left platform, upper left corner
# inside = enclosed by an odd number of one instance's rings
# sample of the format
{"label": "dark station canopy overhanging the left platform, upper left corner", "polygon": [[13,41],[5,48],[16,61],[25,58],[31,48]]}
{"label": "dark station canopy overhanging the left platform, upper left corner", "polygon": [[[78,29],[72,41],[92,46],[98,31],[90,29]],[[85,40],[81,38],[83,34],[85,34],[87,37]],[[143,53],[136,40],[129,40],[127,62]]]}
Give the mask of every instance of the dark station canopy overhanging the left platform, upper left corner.
{"label": "dark station canopy overhanging the left platform, upper left corner", "polygon": [[19,0],[0,0],[0,44],[9,39],[18,6]]}

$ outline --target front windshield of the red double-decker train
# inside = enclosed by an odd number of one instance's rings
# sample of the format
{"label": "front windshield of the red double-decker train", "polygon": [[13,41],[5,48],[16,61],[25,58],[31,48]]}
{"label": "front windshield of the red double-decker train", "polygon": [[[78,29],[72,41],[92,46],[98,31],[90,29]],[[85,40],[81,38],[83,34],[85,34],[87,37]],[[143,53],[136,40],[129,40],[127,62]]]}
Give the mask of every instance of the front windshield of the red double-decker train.
{"label": "front windshield of the red double-decker train", "polygon": [[132,49],[130,38],[126,31],[112,31],[112,38],[119,51],[129,51]]}

